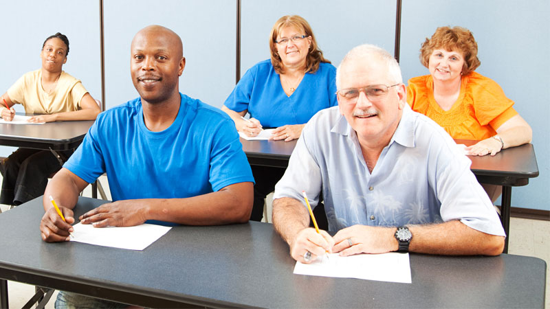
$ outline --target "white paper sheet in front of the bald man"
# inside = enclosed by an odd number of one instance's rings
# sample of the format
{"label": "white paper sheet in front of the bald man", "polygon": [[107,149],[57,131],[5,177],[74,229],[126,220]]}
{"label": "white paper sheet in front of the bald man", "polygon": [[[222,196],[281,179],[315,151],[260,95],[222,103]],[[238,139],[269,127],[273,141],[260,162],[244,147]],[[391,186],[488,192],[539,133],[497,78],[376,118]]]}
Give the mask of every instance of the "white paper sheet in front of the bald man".
{"label": "white paper sheet in front of the bald man", "polygon": [[71,241],[142,251],[171,228],[147,223],[135,227],[93,227],[79,222],[73,225]]}

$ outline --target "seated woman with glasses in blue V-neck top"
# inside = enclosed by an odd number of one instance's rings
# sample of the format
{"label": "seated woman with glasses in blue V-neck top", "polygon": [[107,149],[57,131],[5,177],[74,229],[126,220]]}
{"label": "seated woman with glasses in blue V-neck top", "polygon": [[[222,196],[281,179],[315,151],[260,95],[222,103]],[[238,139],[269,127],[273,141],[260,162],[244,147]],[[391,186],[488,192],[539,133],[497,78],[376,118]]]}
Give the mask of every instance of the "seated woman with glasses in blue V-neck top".
{"label": "seated woman with glasses in blue V-neck top", "polygon": [[[221,107],[236,129],[250,137],[263,127],[276,128],[272,139],[292,141],[318,111],[336,106],[336,68],[322,56],[309,23],[298,15],[283,16],[270,34],[271,60],[249,69]],[[241,117],[250,113],[250,122]],[[252,167],[254,207],[251,220],[261,220],[263,198],[273,191],[284,170]]]}

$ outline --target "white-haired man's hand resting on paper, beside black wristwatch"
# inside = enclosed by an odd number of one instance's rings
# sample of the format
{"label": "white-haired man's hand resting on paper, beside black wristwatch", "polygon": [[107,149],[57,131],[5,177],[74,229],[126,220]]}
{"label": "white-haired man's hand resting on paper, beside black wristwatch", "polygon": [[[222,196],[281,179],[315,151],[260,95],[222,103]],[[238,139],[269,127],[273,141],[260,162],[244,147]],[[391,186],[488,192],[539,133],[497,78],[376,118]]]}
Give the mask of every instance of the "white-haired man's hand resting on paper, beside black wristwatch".
{"label": "white-haired man's hand resting on paper, beside black wristwatch", "polygon": [[395,228],[369,227],[353,225],[341,229],[333,237],[335,245],[332,252],[340,252],[340,256],[359,253],[386,253],[398,249],[397,240],[393,236]]}

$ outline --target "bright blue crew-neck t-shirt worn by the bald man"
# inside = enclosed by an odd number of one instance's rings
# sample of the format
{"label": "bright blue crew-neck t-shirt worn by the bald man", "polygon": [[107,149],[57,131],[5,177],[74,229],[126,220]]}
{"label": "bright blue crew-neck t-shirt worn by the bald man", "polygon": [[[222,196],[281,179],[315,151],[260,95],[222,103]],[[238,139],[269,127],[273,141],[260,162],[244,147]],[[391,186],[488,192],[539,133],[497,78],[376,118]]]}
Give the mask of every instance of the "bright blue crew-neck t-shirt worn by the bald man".
{"label": "bright blue crew-neck t-shirt worn by the bald man", "polygon": [[146,128],[140,98],[100,113],[63,167],[88,183],[107,172],[113,201],[186,198],[254,181],[234,122],[183,94],[161,132]]}

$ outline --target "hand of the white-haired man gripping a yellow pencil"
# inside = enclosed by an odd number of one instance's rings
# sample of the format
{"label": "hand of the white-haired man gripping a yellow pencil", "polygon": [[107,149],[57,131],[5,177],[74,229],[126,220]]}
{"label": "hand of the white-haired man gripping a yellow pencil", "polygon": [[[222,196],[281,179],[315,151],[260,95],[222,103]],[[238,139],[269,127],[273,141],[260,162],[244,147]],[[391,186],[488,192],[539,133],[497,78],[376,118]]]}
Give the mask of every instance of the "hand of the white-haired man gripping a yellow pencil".
{"label": "hand of the white-haired man gripping a yellow pencil", "polygon": [[[294,260],[309,264],[317,260],[318,256],[325,255],[328,251],[332,253],[334,246],[333,238],[327,231],[319,231],[317,233],[314,228],[307,227],[298,232],[292,244],[290,244],[290,255]],[[306,261],[304,255],[307,251],[311,252],[311,259]]]}

